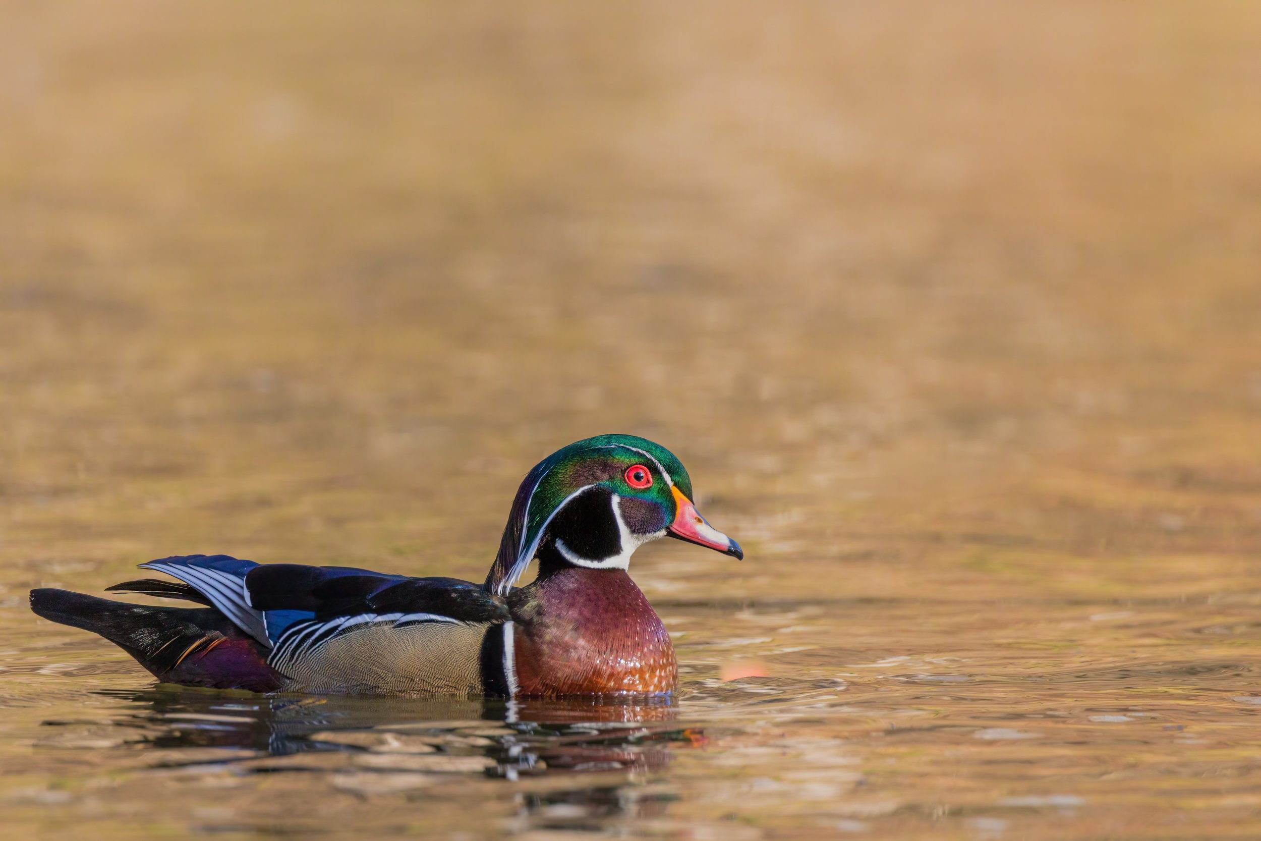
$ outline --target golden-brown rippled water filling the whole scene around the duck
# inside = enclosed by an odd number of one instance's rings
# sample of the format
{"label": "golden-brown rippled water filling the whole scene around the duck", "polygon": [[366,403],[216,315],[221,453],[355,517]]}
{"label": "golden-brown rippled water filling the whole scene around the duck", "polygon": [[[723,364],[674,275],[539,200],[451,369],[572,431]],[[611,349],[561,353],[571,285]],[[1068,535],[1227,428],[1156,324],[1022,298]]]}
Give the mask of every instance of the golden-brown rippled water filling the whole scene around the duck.
{"label": "golden-brown rippled water filling the whole scene around the duck", "polygon": [[[1258,833],[1253,6],[9,6],[8,835]],[[480,580],[605,431],[747,550],[636,555],[672,705],[154,687],[25,606]]]}

